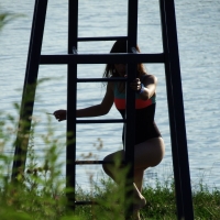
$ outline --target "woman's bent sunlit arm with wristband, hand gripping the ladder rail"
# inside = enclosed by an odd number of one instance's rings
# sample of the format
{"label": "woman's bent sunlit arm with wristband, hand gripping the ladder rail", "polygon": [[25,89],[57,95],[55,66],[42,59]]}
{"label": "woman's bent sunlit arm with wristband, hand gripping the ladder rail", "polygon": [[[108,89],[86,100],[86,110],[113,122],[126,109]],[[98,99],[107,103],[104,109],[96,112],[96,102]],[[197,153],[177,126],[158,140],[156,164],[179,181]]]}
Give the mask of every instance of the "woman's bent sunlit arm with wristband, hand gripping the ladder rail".
{"label": "woman's bent sunlit arm with wristband, hand gripping the ladder rail", "polygon": [[143,81],[140,78],[131,82],[131,89],[140,94],[141,99],[147,100],[154,96],[156,91],[157,78],[153,75],[145,75]]}

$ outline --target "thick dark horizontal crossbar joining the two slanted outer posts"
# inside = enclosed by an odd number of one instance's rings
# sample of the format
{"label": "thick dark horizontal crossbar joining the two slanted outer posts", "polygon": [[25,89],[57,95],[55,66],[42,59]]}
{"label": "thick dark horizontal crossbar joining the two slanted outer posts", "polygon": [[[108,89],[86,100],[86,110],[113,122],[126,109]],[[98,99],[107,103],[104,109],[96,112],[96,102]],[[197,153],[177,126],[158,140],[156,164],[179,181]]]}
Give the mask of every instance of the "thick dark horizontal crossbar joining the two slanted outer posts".
{"label": "thick dark horizontal crossbar joining the two slanted outer posts", "polygon": [[66,54],[41,55],[40,64],[164,63],[164,54]]}

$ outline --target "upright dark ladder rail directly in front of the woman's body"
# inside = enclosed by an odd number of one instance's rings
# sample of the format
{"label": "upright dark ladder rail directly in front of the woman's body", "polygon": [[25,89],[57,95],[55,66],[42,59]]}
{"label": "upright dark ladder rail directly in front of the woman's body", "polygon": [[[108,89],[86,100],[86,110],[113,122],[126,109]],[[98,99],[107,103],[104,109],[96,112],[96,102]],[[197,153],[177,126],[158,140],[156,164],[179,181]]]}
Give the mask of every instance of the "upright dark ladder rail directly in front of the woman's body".
{"label": "upright dark ladder rail directly in front of the woman's body", "polygon": [[[138,0],[129,0],[128,6],[128,53],[132,53],[131,48],[136,46],[138,36]],[[136,77],[136,63],[128,63],[128,81],[127,81],[127,109],[125,109],[125,162],[130,165],[128,173],[127,198],[133,201],[133,182],[134,182],[134,145],[135,145],[135,92],[130,89],[130,82]],[[127,201],[127,199],[125,199]],[[133,202],[132,202],[133,204]],[[133,213],[132,204],[127,212],[127,218]]]}

